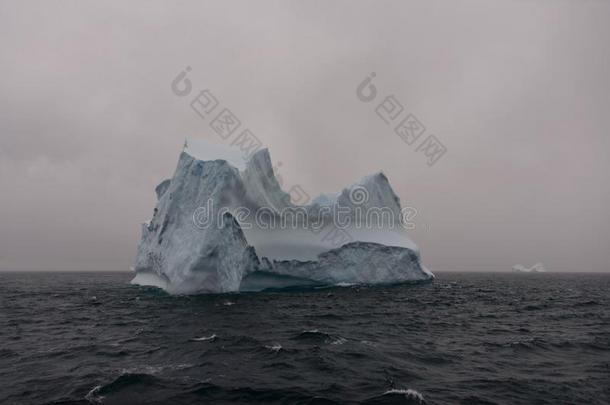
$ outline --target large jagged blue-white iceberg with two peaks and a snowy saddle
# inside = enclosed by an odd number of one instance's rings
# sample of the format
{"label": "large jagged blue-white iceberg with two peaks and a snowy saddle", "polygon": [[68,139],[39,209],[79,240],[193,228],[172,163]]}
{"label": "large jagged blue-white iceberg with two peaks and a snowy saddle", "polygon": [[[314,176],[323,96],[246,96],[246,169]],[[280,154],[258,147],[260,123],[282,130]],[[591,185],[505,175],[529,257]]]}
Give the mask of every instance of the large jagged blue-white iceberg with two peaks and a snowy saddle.
{"label": "large jagged blue-white iceberg with two peaks and a snowy saddle", "polygon": [[133,284],[172,294],[434,278],[383,173],[295,205],[267,149],[188,140],[142,225]]}

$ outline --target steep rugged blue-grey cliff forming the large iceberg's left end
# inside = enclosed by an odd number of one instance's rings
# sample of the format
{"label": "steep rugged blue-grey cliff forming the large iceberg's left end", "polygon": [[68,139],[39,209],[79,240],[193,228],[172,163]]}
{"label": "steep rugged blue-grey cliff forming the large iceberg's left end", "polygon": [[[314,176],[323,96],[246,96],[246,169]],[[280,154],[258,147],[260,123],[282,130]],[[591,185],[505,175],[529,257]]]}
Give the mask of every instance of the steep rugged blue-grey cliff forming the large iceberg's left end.
{"label": "steep rugged blue-grey cliff forming the large iceberg's left end", "polygon": [[204,162],[182,153],[174,177],[156,189],[152,220],[142,226],[134,283],[175,293],[237,291],[255,269],[254,248],[230,213],[205,232],[194,226],[193,213],[208,198],[231,204],[242,187],[239,172],[226,161]]}

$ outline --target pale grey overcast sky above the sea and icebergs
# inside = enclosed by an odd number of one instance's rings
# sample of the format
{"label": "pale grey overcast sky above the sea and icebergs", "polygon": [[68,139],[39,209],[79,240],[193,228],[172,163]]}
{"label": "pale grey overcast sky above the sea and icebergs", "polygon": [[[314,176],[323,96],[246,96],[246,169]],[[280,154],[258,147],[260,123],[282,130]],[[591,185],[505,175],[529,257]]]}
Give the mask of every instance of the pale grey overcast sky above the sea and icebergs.
{"label": "pale grey overcast sky above the sea and icebergs", "polygon": [[[603,0],[0,1],[0,269],[129,269],[185,137],[222,142],[171,91],[187,66],[284,185],[383,170],[433,271],[610,270]],[[388,95],[446,146],[432,167]]]}

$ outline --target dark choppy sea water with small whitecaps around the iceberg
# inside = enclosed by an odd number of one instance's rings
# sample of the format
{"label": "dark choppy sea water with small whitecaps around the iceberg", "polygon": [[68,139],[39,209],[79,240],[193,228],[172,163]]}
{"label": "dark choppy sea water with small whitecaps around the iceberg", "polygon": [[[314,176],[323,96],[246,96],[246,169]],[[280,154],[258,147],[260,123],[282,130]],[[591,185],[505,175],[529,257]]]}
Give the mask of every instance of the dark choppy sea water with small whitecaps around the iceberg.
{"label": "dark choppy sea water with small whitecaps around the iceberg", "polygon": [[177,297],[131,277],[0,273],[0,403],[610,403],[610,275]]}

